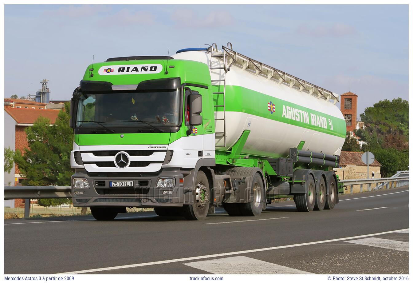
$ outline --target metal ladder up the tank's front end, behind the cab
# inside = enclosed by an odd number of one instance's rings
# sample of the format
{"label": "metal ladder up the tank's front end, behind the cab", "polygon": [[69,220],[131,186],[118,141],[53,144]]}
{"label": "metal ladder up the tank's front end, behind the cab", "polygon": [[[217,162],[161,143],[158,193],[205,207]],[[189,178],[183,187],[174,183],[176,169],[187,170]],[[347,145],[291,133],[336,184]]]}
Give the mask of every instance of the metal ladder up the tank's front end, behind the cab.
{"label": "metal ladder up the tank's front end, behind the cab", "polygon": [[[227,43],[227,48],[230,48],[232,50],[232,43],[228,42]],[[212,43],[211,47],[210,47],[210,51],[211,51],[211,57],[209,59],[209,75],[211,76],[211,82],[213,86],[218,86],[218,92],[213,93],[218,95],[222,95],[222,105],[214,105],[215,107],[215,111],[217,110],[217,108],[222,107],[223,108],[223,118],[215,118],[215,121],[223,121],[223,132],[216,132],[215,136],[219,136],[219,137],[223,137],[224,138],[224,147],[226,147],[227,145],[227,139],[226,139],[226,121],[225,121],[225,86],[226,86],[226,78],[227,78],[227,72],[230,70],[230,67],[232,66],[232,64],[235,62],[235,59],[233,56],[231,56],[224,48],[224,46],[222,46],[223,52],[222,53],[218,53],[218,48],[216,46],[216,43]],[[216,51],[216,54],[214,54],[214,49]],[[228,56],[232,59],[232,62],[230,64],[227,64],[228,62]],[[223,59],[223,67],[212,67],[212,59],[213,58],[222,58]],[[231,60],[230,59],[230,60]],[[218,66],[219,66],[219,61],[218,61]],[[218,79],[212,79],[212,70],[223,70],[224,71],[224,78],[221,78],[221,72],[218,73]],[[217,83],[217,84],[214,84]],[[222,86],[222,90],[221,90],[221,86]],[[218,100],[217,100],[218,103]]]}

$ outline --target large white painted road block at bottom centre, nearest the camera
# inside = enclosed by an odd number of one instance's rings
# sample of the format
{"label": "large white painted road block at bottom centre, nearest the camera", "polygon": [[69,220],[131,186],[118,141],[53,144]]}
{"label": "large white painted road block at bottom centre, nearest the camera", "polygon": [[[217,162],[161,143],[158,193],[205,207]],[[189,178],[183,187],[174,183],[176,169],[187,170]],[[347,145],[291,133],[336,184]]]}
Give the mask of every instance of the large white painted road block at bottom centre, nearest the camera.
{"label": "large white painted road block at bottom centre, nearest the camera", "polygon": [[224,257],[184,264],[214,274],[313,274],[244,256]]}

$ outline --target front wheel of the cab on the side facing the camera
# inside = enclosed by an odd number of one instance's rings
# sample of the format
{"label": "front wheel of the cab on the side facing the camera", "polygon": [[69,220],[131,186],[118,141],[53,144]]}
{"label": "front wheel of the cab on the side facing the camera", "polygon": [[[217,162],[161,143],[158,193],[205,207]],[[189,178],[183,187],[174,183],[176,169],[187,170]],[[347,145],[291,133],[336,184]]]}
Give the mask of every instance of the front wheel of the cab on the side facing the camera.
{"label": "front wheel of the cab on the side facing the camera", "polygon": [[209,183],[207,175],[198,171],[195,181],[195,203],[183,206],[183,215],[188,220],[202,220],[209,209]]}

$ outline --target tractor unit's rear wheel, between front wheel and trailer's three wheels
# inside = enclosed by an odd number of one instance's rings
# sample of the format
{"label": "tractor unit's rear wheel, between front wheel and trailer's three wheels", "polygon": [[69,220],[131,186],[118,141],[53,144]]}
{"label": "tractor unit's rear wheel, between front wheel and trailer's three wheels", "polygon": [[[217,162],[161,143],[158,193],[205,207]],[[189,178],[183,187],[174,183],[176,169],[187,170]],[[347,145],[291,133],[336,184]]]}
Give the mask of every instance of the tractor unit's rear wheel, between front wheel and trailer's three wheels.
{"label": "tractor unit's rear wheel, between front wheel and trailer's three wheels", "polygon": [[255,173],[251,188],[252,201],[242,204],[240,210],[244,216],[259,216],[264,204],[264,183],[261,175]]}

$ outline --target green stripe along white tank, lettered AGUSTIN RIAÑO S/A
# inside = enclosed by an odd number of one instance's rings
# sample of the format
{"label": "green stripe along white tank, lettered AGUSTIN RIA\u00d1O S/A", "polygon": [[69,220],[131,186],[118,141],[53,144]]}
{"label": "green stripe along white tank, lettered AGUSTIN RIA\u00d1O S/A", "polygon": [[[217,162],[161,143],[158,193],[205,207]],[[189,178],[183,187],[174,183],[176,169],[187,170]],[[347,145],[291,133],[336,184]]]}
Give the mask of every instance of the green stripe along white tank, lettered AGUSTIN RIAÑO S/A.
{"label": "green stripe along white tank, lettered AGUSTIN RIA\u00d1O S/A", "polygon": [[[216,89],[218,88],[216,87]],[[214,92],[219,91],[214,90]],[[214,103],[216,103],[216,105],[222,105],[222,95],[215,95]],[[275,111],[271,111],[273,110],[272,105],[274,105]],[[218,107],[217,111],[222,112],[223,110]],[[333,117],[242,86],[225,87],[225,111],[243,112],[302,128],[308,128],[313,131],[327,133],[340,138],[346,137],[346,122],[344,119]]]}

